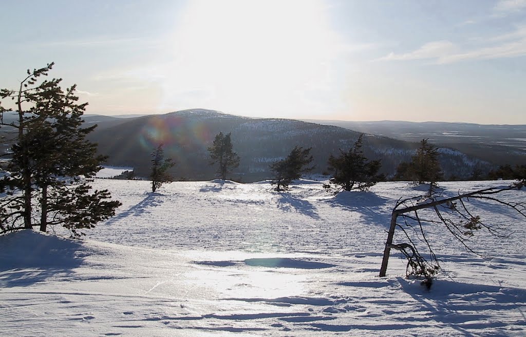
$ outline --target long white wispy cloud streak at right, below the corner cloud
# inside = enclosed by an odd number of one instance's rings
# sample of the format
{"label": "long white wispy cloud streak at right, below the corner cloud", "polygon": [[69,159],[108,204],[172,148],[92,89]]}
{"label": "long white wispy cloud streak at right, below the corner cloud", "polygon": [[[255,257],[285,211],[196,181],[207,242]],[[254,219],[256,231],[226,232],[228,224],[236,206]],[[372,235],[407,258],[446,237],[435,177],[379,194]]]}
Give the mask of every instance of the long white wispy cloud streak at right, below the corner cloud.
{"label": "long white wispy cloud streak at right, below the corner cloud", "polygon": [[[482,40],[482,39],[480,39]],[[469,59],[496,59],[526,56],[526,26],[519,26],[511,33],[484,38],[486,45],[461,48],[448,40],[428,42],[412,52],[390,53],[377,60],[419,60],[432,59],[437,64],[460,62]]]}

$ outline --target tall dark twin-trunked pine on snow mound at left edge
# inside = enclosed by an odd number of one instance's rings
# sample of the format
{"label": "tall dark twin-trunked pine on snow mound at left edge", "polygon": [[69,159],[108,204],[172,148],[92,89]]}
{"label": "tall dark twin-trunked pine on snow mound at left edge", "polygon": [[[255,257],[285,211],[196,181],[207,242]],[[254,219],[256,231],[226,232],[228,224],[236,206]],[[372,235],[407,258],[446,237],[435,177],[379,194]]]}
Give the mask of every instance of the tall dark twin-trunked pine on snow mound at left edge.
{"label": "tall dark twin-trunked pine on snow mound at left edge", "polygon": [[[104,156],[86,135],[96,125],[82,128],[87,103],[77,104],[76,86],[63,90],[62,79],[43,80],[53,63],[27,70],[18,90],[2,89],[0,97],[11,98],[18,120],[4,123],[8,110],[0,106],[0,125],[15,130],[7,139],[10,151],[0,179],[0,226],[2,231],[60,225],[78,236],[78,229],[92,228],[115,214],[119,201],[110,201],[107,190],[88,185]],[[27,107],[27,109],[25,109]],[[35,216],[39,214],[38,216]]]}

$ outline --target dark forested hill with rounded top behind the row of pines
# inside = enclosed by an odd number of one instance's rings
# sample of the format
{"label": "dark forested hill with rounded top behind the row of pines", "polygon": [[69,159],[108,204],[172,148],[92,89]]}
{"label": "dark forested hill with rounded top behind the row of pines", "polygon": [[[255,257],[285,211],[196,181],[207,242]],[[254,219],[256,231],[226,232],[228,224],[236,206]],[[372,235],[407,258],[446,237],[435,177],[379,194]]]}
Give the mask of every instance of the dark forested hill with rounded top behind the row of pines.
{"label": "dark forested hill with rounded top behind the row of pines", "polygon": [[[96,119],[97,116],[89,116],[86,123]],[[232,134],[232,144],[241,161],[231,178],[242,181],[269,178],[269,164],[287,156],[296,145],[312,147],[315,172],[322,173],[329,155],[350,148],[361,133],[306,121],[249,118],[207,109],[130,119],[102,118],[97,122],[99,127],[89,138],[98,142],[102,154],[109,156],[109,165],[135,167],[138,176],[147,177],[150,152],[163,143],[167,156],[176,162],[175,177],[189,180],[215,177],[207,148],[219,131]],[[414,142],[370,133],[365,135],[363,146],[371,159],[382,160],[382,171],[387,175],[393,175],[398,164],[408,161],[417,147]],[[454,149],[442,149],[440,159],[447,176],[469,177],[474,167],[486,171],[491,167],[488,162]]]}

